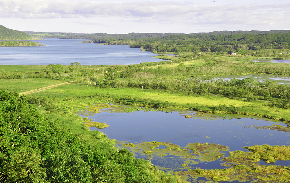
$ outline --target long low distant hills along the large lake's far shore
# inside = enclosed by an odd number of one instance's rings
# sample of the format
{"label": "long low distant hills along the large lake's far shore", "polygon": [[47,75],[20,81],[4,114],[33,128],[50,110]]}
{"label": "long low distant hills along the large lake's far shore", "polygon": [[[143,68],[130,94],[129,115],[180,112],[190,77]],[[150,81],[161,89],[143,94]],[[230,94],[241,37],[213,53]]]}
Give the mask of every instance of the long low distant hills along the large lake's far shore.
{"label": "long low distant hills along the large lake's far shore", "polygon": [[176,33],[129,33],[129,34],[80,34],[80,33],[68,33],[68,32],[32,32],[27,31],[27,34],[33,37],[44,38],[63,38],[63,39],[134,39],[134,38],[155,38],[165,37],[170,35],[180,35]]}

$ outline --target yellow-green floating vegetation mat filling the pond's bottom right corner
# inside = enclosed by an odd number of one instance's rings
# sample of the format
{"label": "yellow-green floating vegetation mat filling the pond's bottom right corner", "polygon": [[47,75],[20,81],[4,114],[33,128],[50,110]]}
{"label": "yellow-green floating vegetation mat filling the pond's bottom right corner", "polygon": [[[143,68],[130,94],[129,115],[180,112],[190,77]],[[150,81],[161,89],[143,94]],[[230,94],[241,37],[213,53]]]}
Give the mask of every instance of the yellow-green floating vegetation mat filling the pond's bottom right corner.
{"label": "yellow-green floating vegetation mat filling the pond's bottom right corner", "polygon": [[226,169],[191,169],[190,171],[179,171],[178,175],[200,176],[213,181],[239,182],[289,182],[290,166],[260,165],[258,162],[264,160],[273,163],[276,160],[290,160],[290,146],[259,145],[244,147],[251,152],[232,151],[229,156],[223,158],[221,165]]}

